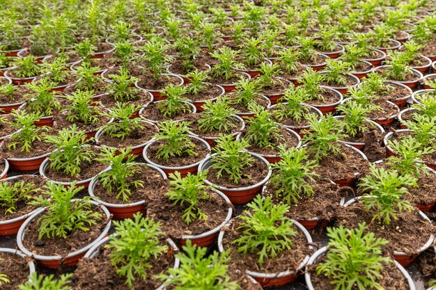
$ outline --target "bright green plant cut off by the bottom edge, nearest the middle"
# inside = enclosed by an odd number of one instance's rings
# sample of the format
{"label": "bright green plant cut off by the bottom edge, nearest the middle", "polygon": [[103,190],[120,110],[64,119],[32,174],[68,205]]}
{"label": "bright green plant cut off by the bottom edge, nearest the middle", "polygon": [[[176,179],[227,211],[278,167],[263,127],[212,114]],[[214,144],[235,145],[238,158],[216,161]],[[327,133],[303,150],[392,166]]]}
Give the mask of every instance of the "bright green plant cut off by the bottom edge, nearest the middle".
{"label": "bright green plant cut off by the bottom edge, nearest the middle", "polygon": [[[232,273],[231,259],[228,252],[212,252],[206,255],[207,248],[198,247],[187,241],[182,247],[183,252],[176,254],[180,259],[180,267],[169,269],[167,273],[159,275],[160,280],[166,280],[166,287],[174,289],[192,288],[198,290],[236,290],[240,287],[244,289],[261,289],[256,281],[252,282],[244,273]],[[241,277],[242,275],[242,277]],[[194,279],[194,277],[204,277],[204,279]]]}

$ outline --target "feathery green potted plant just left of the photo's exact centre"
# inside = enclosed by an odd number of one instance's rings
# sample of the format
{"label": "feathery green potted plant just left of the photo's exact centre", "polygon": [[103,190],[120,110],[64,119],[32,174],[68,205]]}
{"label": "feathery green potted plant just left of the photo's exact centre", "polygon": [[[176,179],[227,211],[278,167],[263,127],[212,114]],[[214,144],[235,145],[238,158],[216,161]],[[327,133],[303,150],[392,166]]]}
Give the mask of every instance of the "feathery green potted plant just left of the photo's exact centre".
{"label": "feathery green potted plant just left of the photo's exact centre", "polygon": [[157,124],[159,133],[143,149],[143,158],[164,170],[166,174],[178,171],[182,176],[195,173],[198,164],[210,154],[209,144],[189,136],[189,122],[169,120]]}

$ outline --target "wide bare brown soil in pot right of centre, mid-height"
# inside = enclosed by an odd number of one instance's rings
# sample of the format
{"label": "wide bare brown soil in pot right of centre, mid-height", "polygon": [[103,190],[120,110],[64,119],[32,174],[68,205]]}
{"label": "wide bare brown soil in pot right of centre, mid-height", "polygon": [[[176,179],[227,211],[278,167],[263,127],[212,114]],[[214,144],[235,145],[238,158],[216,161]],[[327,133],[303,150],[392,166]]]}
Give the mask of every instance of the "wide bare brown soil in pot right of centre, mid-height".
{"label": "wide bare brown soil in pot right of centre, mid-height", "polygon": [[316,172],[322,178],[332,181],[358,178],[368,169],[368,161],[360,154],[345,145],[341,144],[341,147],[341,154],[332,154],[321,159],[320,167],[316,168]]}

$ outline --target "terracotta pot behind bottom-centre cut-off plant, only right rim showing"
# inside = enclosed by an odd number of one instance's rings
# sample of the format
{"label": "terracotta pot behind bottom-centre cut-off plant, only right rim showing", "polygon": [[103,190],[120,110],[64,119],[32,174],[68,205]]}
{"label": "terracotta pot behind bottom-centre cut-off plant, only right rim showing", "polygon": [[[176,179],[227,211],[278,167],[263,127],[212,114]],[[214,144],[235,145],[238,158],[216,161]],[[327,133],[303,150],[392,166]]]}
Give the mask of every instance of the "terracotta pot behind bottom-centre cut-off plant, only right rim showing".
{"label": "terracotta pot behind bottom-centre cut-off plant, only right rim showing", "polygon": [[197,245],[198,247],[207,247],[208,245],[212,245],[212,243],[215,243],[217,241],[219,232],[221,231],[222,227],[227,225],[228,222],[231,220],[233,215],[233,206],[231,205],[230,200],[227,198],[226,195],[224,195],[224,193],[221,193],[221,191],[217,191],[215,188],[212,190],[215,191],[215,193],[217,193],[229,204],[226,219],[220,225],[215,227],[215,229],[211,229],[208,232],[182,236],[182,239],[180,239],[182,245],[186,245],[186,241],[188,240],[190,240],[193,245]]}

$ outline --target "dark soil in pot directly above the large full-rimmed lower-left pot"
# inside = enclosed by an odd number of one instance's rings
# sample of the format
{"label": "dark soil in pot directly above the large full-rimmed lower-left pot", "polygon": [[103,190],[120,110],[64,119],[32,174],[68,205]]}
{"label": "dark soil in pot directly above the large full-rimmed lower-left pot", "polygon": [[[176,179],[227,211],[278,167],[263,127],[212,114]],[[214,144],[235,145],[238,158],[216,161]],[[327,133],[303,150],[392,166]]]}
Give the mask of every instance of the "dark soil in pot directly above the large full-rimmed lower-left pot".
{"label": "dark soil in pot directly above the large full-rimmed lower-left pot", "polygon": [[[91,147],[88,150],[93,151],[95,153],[95,157],[97,157],[100,153],[98,147]],[[65,172],[54,171],[51,167],[51,163],[49,163],[47,169],[45,170],[45,176],[47,176],[49,179],[55,180],[56,182],[73,182],[75,180],[81,181],[98,175],[98,173],[102,172],[106,168],[106,164],[100,163],[94,159],[91,162],[81,163],[81,172],[75,176],[70,176]]]}

